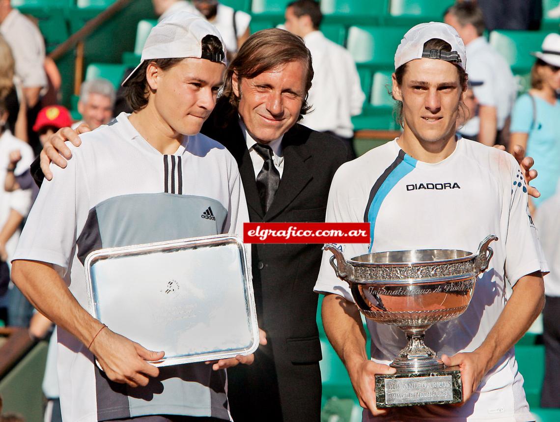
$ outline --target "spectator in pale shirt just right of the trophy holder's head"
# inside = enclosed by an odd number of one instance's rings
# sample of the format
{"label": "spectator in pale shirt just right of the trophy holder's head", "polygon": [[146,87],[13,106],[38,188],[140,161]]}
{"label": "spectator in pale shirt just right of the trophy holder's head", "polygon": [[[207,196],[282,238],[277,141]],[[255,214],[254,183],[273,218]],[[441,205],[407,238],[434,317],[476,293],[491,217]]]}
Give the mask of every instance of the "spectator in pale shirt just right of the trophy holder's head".
{"label": "spectator in pale shirt just right of the trophy holder's head", "polygon": [[[466,71],[476,83],[473,92],[479,103],[478,116],[466,122],[462,133],[488,146],[506,143],[501,131],[517,96],[517,84],[510,66],[482,36],[482,10],[473,3],[458,3],[445,12],[445,23],[459,33],[466,46]],[[477,136],[475,136],[477,135]]]}

